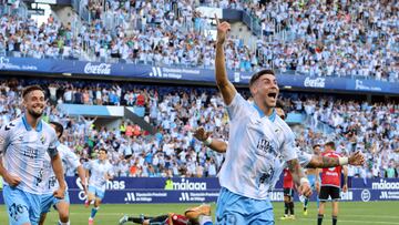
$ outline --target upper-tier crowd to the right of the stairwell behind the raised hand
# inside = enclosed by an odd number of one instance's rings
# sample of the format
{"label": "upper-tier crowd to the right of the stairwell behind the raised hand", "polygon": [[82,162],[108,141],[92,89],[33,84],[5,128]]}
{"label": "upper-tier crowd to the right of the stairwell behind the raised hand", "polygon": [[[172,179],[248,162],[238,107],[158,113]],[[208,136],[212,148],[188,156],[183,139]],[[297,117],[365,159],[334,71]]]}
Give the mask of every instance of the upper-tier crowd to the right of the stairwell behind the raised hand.
{"label": "upper-tier crowd to the right of the stairwell behind the raised hand", "polygon": [[239,1],[238,8],[262,24],[262,67],[398,81],[398,1]]}

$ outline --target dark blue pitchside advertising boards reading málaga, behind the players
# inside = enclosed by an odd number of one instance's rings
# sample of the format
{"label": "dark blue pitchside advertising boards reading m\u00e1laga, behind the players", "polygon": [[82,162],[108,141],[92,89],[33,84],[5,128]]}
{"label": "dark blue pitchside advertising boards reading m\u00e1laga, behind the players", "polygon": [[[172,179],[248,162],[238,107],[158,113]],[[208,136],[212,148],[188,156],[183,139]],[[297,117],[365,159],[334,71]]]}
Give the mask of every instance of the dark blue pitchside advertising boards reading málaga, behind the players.
{"label": "dark blue pitchside advertising boards reading m\u00e1laga, behind the players", "polygon": [[[217,201],[221,186],[217,178],[173,178],[173,184],[166,188],[166,178],[115,178],[106,183],[103,203],[212,203]],[[83,187],[76,177],[66,177],[72,204],[85,201]],[[278,185],[277,185],[278,186]],[[352,187],[341,193],[342,201],[399,201],[399,178],[354,178]],[[270,193],[274,202],[284,201],[282,188]],[[311,201],[316,201],[316,193]],[[295,195],[295,201],[299,201]],[[2,194],[0,204],[3,204]]]}

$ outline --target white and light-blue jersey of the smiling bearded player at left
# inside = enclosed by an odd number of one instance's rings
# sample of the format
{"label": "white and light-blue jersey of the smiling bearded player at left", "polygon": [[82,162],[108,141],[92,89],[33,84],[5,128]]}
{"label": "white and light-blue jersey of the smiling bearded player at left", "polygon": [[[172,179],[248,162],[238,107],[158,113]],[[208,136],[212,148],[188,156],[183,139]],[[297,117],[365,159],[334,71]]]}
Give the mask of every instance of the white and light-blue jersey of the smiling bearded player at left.
{"label": "white and light-blue jersey of the smiling bearded player at left", "polygon": [[21,178],[17,188],[24,192],[42,194],[45,156],[57,155],[58,145],[55,131],[48,123],[40,121],[33,130],[24,115],[0,129],[3,165]]}

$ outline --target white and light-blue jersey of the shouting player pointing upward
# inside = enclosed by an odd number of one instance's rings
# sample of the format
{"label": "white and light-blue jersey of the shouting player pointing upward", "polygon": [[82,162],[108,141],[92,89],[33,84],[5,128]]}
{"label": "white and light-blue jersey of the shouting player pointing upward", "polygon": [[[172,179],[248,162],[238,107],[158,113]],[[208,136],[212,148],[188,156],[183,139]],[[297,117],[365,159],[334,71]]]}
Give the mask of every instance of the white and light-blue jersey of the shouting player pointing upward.
{"label": "white and light-blue jersey of the shouting player pointing upward", "polygon": [[246,197],[265,200],[285,162],[297,158],[295,135],[275,112],[265,116],[238,93],[227,112],[229,137],[218,174],[221,186]]}

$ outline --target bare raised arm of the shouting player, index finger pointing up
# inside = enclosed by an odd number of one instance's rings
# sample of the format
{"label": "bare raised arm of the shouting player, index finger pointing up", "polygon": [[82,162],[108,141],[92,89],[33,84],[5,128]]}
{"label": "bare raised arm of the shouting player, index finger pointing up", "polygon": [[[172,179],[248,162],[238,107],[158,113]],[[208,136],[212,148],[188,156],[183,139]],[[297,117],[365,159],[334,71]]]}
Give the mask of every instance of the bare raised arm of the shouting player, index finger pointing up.
{"label": "bare raised arm of the shouting player, index finger pointing up", "polygon": [[224,53],[224,42],[226,40],[227,31],[229,31],[231,25],[228,22],[219,22],[216,18],[217,23],[217,40],[216,40],[216,58],[215,58],[215,73],[216,73],[216,85],[222,92],[224,102],[229,105],[233,101],[237,90],[234,88],[233,83],[228,80],[226,72],[226,62]]}

